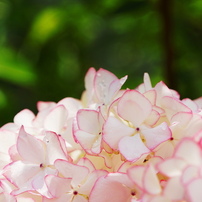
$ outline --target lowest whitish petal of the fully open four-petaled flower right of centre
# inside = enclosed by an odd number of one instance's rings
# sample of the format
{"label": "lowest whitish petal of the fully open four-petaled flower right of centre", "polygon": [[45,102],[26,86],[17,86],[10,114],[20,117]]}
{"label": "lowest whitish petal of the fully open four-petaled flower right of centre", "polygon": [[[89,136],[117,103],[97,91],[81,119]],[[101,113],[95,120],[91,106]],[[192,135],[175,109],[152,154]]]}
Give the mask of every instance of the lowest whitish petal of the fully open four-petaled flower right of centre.
{"label": "lowest whitish petal of the fully open four-petaled flower right of centre", "polygon": [[145,146],[139,134],[134,136],[123,137],[119,141],[119,151],[128,161],[136,161],[143,154],[150,153],[150,150]]}

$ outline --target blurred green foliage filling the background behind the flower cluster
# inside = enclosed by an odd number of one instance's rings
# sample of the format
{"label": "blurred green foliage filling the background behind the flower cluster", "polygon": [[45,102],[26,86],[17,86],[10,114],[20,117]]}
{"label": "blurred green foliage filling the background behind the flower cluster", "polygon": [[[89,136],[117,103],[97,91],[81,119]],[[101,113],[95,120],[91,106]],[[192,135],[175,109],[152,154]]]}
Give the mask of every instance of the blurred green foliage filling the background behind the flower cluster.
{"label": "blurred green foliage filling the background behind the flower cluster", "polygon": [[[149,72],[154,84],[164,80],[182,98],[201,96],[202,2],[170,0],[169,25],[163,1],[0,0],[0,125],[24,108],[36,113],[39,100],[80,98],[91,66],[129,75],[125,87]],[[172,75],[165,70],[166,26]]]}

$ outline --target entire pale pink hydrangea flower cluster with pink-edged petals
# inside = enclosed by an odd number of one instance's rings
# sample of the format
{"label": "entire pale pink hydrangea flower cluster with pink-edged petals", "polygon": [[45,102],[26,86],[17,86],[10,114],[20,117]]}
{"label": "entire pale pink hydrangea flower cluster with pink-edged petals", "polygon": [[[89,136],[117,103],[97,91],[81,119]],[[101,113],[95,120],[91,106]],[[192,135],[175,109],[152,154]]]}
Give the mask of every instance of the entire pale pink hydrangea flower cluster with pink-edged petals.
{"label": "entire pale pink hydrangea flower cluster with pink-edged petals", "polygon": [[202,98],[90,68],[80,100],[0,128],[0,201],[201,202]]}

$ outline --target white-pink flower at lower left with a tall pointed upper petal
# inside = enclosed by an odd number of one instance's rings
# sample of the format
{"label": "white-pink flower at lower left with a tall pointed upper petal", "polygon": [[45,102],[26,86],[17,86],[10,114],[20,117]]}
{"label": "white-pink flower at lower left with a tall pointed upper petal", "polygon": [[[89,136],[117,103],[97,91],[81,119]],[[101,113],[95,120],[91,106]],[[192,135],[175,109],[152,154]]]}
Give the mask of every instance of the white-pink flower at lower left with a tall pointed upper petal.
{"label": "white-pink flower at lower left with a tall pointed upper petal", "polygon": [[14,195],[37,190],[42,195],[49,196],[44,177],[58,172],[53,166],[56,159],[67,160],[69,157],[55,133],[47,132],[44,141],[29,135],[23,127],[20,129],[17,151],[21,159],[8,164],[3,170],[3,175],[18,187],[12,192]]}

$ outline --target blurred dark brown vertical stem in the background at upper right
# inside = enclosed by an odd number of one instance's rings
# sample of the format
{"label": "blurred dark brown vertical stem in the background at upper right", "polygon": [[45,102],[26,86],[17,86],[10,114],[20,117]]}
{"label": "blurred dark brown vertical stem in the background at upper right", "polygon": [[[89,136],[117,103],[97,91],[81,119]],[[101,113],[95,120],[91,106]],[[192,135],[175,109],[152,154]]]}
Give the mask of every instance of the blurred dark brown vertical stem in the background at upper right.
{"label": "blurred dark brown vertical stem in the background at upper right", "polygon": [[173,24],[172,0],[159,0],[159,12],[162,20],[162,45],[164,49],[164,74],[169,88],[177,90],[175,69],[173,66]]}

